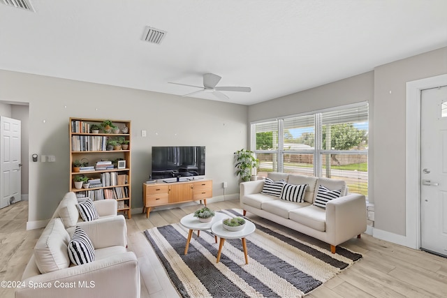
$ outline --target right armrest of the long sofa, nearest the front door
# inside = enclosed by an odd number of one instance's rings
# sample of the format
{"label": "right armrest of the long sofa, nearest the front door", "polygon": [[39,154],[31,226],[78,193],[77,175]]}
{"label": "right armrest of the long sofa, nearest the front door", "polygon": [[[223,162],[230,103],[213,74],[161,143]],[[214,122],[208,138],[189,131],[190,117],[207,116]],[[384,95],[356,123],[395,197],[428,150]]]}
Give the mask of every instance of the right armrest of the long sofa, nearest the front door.
{"label": "right armrest of the long sofa, nearest the front door", "polygon": [[351,193],[326,204],[326,232],[333,246],[365,232],[367,228],[365,195]]}

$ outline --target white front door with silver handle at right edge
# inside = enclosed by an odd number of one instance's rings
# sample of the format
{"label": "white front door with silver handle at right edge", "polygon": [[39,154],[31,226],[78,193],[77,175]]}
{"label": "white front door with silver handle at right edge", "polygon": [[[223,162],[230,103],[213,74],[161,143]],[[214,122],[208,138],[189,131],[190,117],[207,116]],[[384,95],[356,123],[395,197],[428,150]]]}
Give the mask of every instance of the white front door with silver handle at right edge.
{"label": "white front door with silver handle at right edge", "polygon": [[420,96],[420,246],[447,255],[447,86]]}

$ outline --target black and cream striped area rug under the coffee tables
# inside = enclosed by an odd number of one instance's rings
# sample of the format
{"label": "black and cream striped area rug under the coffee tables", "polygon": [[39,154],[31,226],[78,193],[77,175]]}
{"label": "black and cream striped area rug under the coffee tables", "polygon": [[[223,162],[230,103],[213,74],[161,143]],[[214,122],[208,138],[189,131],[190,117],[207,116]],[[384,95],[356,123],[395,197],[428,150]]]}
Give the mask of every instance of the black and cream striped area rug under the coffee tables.
{"label": "black and cream striped area rug under the coffee tables", "polygon": [[[238,211],[222,212],[242,216]],[[210,232],[194,234],[187,255],[188,230],[179,223],[146,230],[145,235],[182,297],[303,297],[362,258],[340,246],[332,254],[255,225],[256,232],[246,238],[248,265],[240,239],[226,239],[216,263],[219,244]]]}

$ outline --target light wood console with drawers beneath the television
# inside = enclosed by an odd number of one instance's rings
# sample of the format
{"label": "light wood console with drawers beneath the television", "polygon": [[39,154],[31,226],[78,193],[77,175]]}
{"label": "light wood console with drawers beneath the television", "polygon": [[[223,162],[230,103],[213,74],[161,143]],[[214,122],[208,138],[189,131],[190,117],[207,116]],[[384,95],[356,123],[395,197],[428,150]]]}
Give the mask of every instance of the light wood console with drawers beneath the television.
{"label": "light wood console with drawers beneath the television", "polygon": [[196,179],[170,183],[142,184],[142,212],[149,218],[153,207],[212,198],[212,180]]}

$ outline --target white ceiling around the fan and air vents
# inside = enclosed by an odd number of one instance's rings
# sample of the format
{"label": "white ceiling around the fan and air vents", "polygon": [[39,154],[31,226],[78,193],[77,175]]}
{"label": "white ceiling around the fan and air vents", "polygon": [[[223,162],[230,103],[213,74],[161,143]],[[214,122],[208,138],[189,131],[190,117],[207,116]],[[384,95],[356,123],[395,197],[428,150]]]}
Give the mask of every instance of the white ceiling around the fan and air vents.
{"label": "white ceiling around the fan and air vents", "polygon": [[29,1],[0,4],[0,69],[177,95],[215,73],[243,105],[447,46],[446,0]]}

